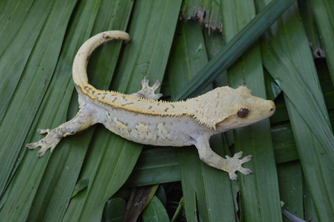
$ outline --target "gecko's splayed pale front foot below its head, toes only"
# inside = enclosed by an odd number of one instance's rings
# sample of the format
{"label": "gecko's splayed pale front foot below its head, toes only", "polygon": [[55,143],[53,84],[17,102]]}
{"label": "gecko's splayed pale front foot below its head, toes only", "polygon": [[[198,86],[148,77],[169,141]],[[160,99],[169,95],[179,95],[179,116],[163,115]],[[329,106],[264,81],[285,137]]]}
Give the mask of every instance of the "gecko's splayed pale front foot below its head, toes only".
{"label": "gecko's splayed pale front foot below its head, toes only", "polygon": [[247,175],[252,173],[250,169],[243,168],[241,165],[250,161],[252,158],[251,155],[244,157],[243,159],[239,159],[242,156],[242,152],[237,152],[234,154],[233,157],[225,156],[226,160],[228,161],[228,166],[224,168],[223,170],[228,172],[230,175],[231,180],[237,180],[237,174],[235,171],[239,171],[240,173]]}

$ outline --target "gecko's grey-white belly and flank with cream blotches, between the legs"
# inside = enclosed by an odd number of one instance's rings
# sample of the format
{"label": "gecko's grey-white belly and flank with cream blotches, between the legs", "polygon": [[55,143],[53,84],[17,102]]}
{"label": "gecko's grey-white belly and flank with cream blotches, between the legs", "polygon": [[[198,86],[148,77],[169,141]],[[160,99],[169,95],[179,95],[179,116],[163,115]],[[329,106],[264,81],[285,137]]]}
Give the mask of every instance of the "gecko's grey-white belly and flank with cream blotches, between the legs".
{"label": "gecko's grey-white belly and flank with cream blotches, between the legs", "polygon": [[111,132],[136,143],[161,146],[193,145],[195,138],[211,131],[189,116],[152,116],[108,107],[102,124]]}

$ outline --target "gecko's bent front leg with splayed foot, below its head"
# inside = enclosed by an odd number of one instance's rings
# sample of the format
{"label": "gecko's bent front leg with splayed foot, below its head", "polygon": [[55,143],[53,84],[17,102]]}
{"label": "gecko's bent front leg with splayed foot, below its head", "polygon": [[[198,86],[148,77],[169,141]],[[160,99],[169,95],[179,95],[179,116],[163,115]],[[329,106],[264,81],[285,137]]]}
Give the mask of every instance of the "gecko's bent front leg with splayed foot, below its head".
{"label": "gecko's bent front leg with splayed foot, below its head", "polygon": [[242,164],[250,161],[252,158],[251,155],[246,156],[243,159],[239,159],[242,152],[237,152],[233,157],[228,157],[226,155],[225,159],[216,154],[216,152],[212,151],[209,145],[209,136],[199,136],[196,139],[195,145],[202,161],[209,166],[228,172],[231,180],[237,180],[237,174],[235,171],[239,171],[245,175],[252,173],[250,169],[243,168],[241,166]]}

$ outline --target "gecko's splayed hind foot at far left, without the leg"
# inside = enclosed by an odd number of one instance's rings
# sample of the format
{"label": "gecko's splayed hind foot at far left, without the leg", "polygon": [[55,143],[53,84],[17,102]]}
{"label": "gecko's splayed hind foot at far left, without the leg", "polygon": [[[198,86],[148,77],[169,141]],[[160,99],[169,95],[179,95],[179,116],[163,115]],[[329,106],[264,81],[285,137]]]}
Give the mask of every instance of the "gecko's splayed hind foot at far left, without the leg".
{"label": "gecko's splayed hind foot at far left, without the leg", "polygon": [[52,152],[59,141],[61,141],[61,138],[63,136],[59,136],[57,132],[54,129],[37,129],[37,132],[39,134],[46,134],[45,138],[42,138],[40,141],[35,143],[29,143],[26,144],[26,147],[29,149],[35,149],[40,146],[40,150],[37,153],[37,157],[44,156],[45,152],[50,149]]}

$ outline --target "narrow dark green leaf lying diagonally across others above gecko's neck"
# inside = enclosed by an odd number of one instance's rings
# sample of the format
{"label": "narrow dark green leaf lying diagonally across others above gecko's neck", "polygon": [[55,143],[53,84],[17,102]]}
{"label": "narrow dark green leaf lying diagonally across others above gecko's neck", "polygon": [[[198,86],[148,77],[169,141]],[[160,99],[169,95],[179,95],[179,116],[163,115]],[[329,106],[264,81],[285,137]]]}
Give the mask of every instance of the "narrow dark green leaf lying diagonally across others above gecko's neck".
{"label": "narrow dark green leaf lying diagonally across others above gecko's neck", "polygon": [[230,42],[182,88],[177,100],[198,95],[212,83],[294,2],[273,0],[256,15]]}

